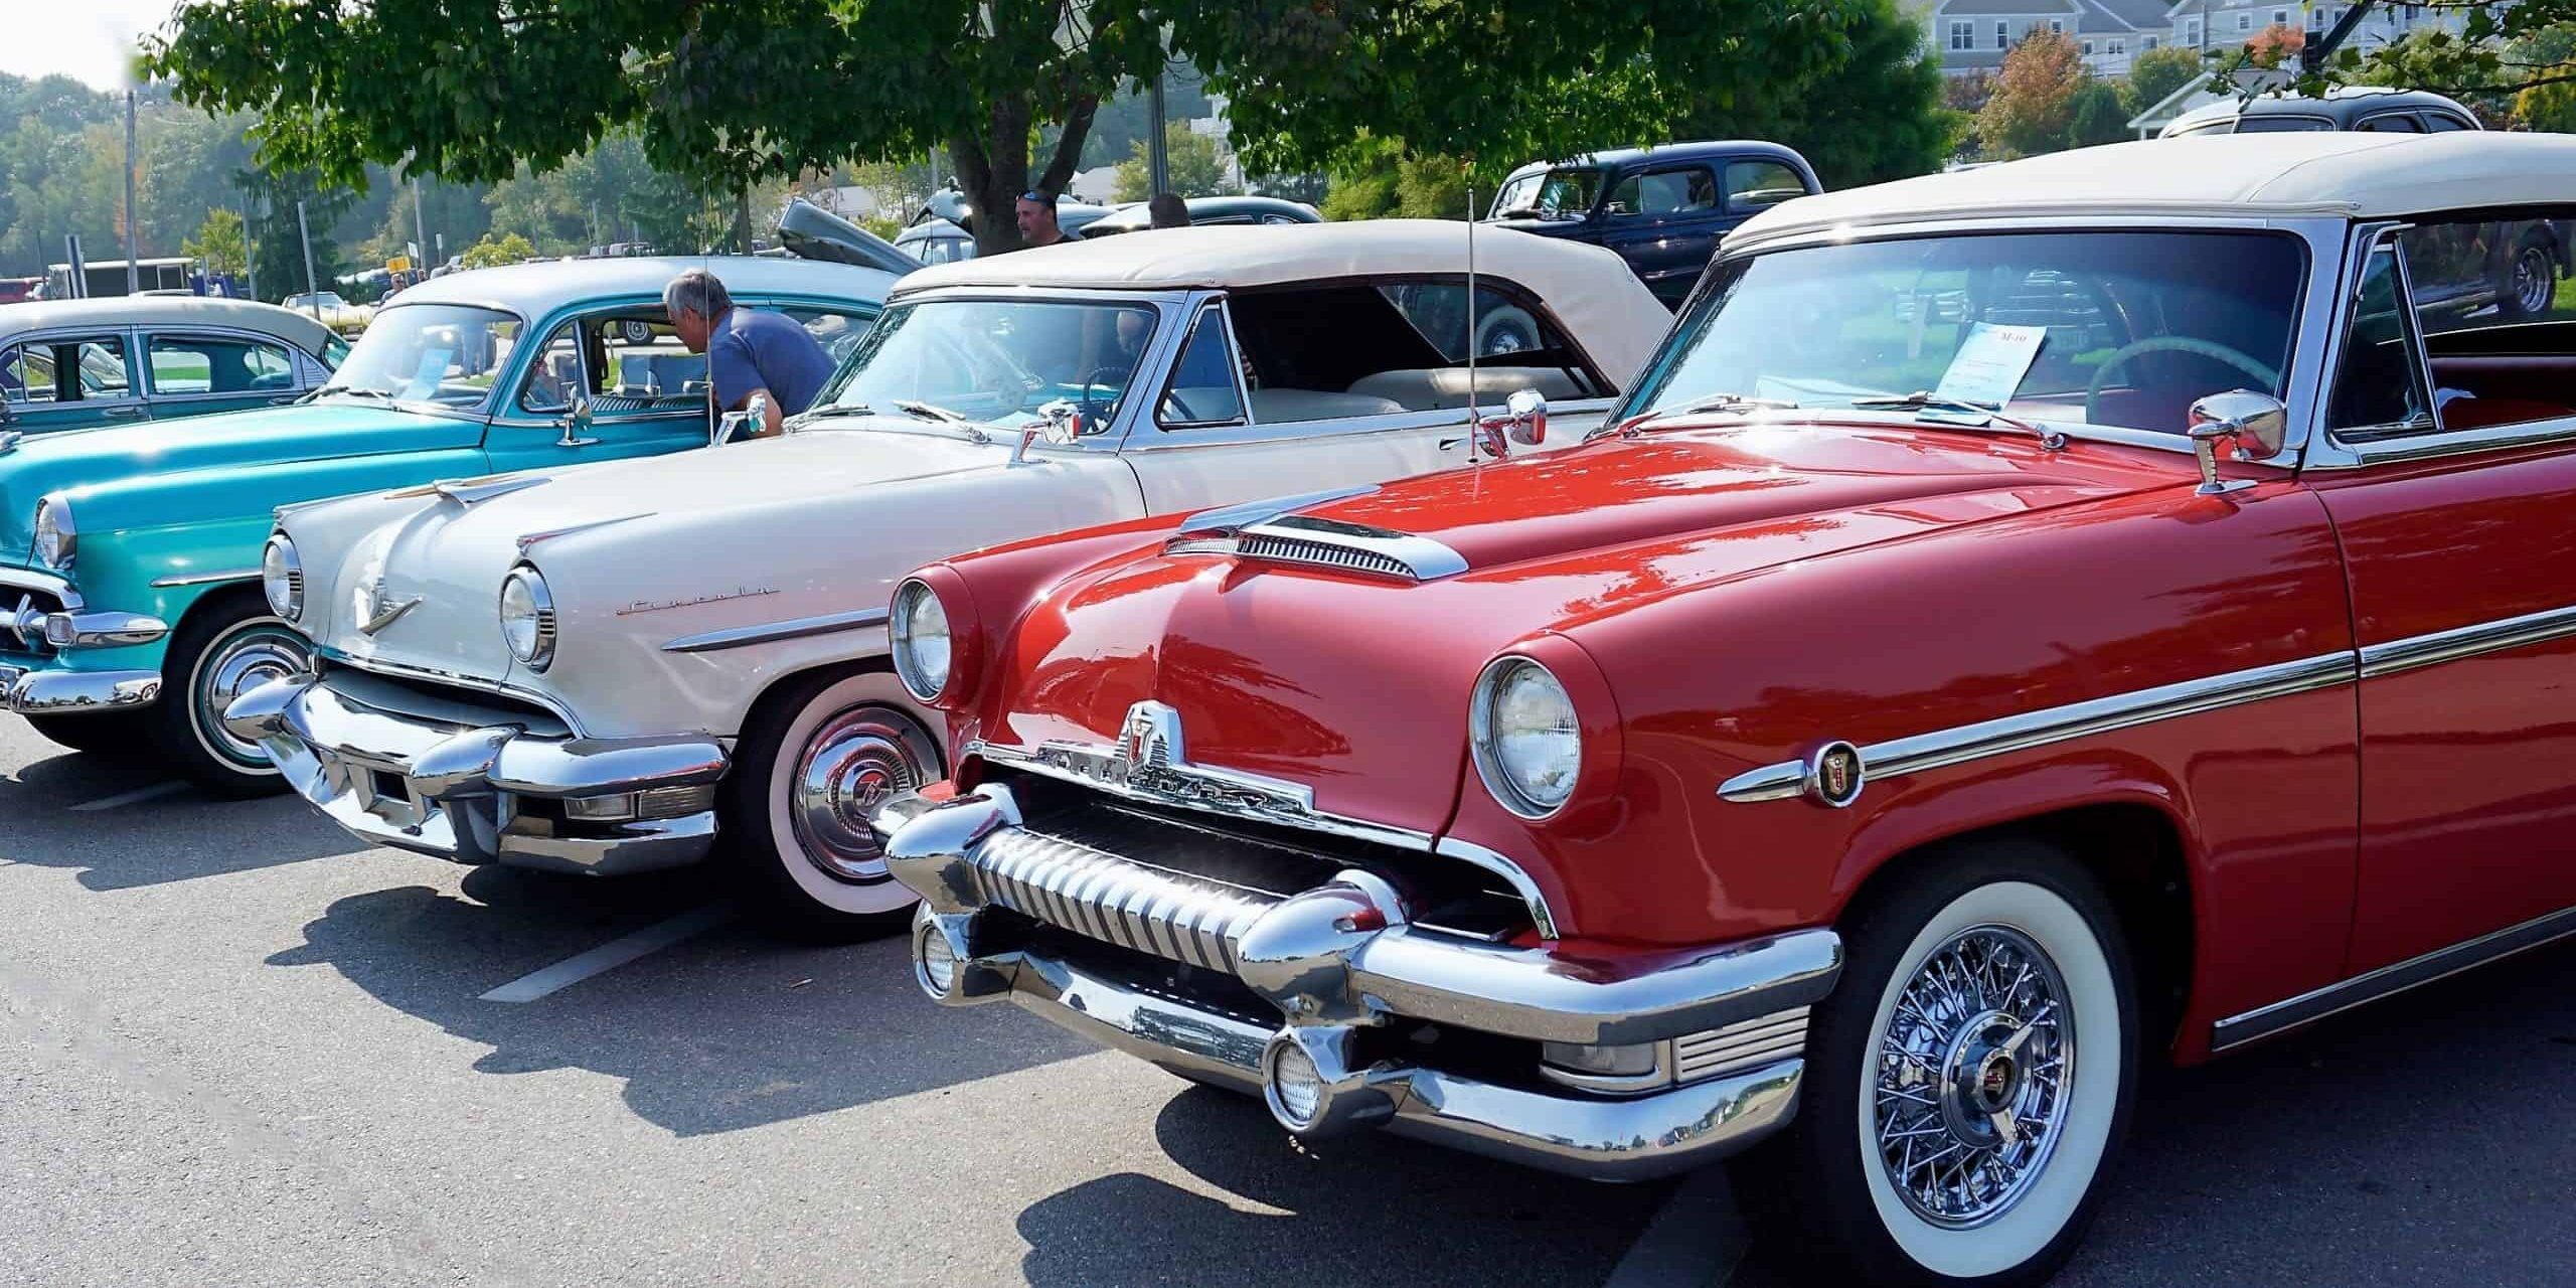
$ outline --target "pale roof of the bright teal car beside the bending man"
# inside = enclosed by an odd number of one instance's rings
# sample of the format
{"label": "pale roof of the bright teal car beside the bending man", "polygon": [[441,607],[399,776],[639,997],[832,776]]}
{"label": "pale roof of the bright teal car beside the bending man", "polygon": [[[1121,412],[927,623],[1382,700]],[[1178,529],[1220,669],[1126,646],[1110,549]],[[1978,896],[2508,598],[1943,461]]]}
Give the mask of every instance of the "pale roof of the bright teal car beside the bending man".
{"label": "pale roof of the bright teal car beside the bending man", "polygon": [[884,301],[894,273],[832,260],[757,255],[603,255],[598,260],[544,260],[466,268],[404,286],[384,304],[489,304],[538,317],[600,296],[659,296],[670,278],[706,268],[729,294],[824,294]]}

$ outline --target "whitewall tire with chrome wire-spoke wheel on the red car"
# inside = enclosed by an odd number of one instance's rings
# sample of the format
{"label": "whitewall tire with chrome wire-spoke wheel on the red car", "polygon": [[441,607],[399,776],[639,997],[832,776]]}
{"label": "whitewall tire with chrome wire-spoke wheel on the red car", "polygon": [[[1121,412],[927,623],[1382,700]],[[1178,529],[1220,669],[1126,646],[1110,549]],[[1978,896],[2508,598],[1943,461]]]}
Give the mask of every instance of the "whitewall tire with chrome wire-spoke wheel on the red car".
{"label": "whitewall tire with chrome wire-spoke wheel on the red car", "polygon": [[1947,858],[1844,925],[1798,1121],[1747,1159],[1826,1278],[2045,1280],[2128,1126],[2138,1007],[2099,884],[2030,842]]}

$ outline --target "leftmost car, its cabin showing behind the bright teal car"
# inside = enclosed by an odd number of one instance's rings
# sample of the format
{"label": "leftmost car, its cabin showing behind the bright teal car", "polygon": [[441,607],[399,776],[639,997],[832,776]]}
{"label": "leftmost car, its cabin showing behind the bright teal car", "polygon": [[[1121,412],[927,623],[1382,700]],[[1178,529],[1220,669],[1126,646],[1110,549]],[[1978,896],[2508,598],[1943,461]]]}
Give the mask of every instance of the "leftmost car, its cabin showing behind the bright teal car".
{"label": "leftmost car, its cabin showing behind the bright teal car", "polygon": [[206,296],[0,309],[0,440],[294,402],[348,340],[276,304]]}

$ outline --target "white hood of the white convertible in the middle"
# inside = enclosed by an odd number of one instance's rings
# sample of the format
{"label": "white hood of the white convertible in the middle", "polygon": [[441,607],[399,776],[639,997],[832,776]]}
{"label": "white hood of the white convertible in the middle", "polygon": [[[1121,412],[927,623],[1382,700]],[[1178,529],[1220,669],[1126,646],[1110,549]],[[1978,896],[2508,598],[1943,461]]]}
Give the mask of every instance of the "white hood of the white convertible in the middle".
{"label": "white hood of the white convertible in the middle", "polygon": [[[999,440],[809,430],[461,484],[420,497],[417,510],[355,541],[337,564],[337,603],[317,605],[327,618],[312,626],[355,659],[528,683],[533,675],[502,647],[497,618],[500,582],[515,564],[546,574],[564,639],[598,639],[621,618],[737,598],[783,605],[819,590],[824,569],[781,549],[775,533],[811,533],[819,505],[855,520],[863,489],[1002,469],[1007,459]],[[799,520],[781,523],[786,515]],[[685,538],[672,541],[675,533]],[[399,618],[363,631],[404,603],[412,605]],[[768,605],[757,616],[770,616]]]}

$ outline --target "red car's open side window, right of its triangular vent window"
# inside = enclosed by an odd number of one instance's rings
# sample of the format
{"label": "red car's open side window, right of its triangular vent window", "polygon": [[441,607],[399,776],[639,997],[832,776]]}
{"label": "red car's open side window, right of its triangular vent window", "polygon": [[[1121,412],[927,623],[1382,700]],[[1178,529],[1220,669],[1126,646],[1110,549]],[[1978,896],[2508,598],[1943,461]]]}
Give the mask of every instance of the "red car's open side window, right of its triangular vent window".
{"label": "red car's open side window, right of its triangular vent window", "polygon": [[2439,428],[2576,417],[2576,283],[2561,276],[2566,227],[2419,219],[2398,234]]}

